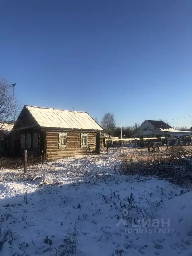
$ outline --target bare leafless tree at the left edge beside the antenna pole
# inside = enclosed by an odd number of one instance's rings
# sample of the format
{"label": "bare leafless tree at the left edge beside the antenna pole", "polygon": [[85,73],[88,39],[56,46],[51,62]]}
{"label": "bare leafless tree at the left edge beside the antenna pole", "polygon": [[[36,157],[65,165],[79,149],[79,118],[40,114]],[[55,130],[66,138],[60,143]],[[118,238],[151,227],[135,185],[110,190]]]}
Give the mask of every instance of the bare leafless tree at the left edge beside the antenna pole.
{"label": "bare leafless tree at the left edge beside the antenna pole", "polygon": [[13,120],[13,96],[5,79],[0,77],[0,129]]}

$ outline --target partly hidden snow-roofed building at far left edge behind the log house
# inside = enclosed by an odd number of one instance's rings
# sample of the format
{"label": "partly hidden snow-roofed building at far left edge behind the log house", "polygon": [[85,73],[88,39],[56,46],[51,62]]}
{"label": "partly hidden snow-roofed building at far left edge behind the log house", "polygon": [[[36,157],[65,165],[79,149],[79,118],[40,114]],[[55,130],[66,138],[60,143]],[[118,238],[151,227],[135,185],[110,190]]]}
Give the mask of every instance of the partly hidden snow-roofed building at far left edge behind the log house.
{"label": "partly hidden snow-roofed building at far left edge behind the log house", "polygon": [[0,153],[7,151],[7,137],[12,129],[13,122],[0,122]]}

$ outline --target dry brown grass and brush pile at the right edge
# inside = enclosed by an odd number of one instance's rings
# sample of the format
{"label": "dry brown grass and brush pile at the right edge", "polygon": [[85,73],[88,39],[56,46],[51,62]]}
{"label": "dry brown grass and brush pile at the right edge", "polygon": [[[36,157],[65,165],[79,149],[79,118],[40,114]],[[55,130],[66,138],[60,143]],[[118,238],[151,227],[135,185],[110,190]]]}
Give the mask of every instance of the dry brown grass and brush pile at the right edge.
{"label": "dry brown grass and brush pile at the right edge", "polygon": [[121,173],[124,175],[150,175],[171,179],[174,183],[192,183],[192,148],[162,147],[160,151],[147,149],[122,153]]}

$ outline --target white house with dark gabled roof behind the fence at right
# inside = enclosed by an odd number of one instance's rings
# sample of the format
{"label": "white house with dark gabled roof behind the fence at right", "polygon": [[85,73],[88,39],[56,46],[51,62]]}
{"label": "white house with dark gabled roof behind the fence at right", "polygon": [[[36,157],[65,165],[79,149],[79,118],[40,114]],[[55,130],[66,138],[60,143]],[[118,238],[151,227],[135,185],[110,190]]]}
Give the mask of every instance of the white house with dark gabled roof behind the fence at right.
{"label": "white house with dark gabled roof behind the fence at right", "polygon": [[176,130],[163,121],[145,120],[133,134],[135,138],[179,137],[191,135],[190,131]]}

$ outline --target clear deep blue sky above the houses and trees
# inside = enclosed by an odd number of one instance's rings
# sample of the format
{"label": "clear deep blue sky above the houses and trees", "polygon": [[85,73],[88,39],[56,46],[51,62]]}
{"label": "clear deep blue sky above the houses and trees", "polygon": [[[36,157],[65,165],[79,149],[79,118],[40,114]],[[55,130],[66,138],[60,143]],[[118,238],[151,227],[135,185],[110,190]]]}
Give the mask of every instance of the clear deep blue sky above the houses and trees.
{"label": "clear deep blue sky above the houses and trees", "polygon": [[0,75],[17,84],[21,106],[111,112],[117,123],[192,116],[191,0],[2,0],[0,9]]}

